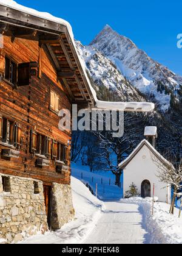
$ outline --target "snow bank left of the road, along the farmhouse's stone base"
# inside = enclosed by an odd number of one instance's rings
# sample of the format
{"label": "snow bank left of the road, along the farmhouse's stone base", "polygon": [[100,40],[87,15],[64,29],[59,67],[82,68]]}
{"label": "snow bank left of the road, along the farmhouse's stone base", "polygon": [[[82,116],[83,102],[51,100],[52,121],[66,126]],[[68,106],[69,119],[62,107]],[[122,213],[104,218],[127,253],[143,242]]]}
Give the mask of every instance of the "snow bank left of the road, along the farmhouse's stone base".
{"label": "snow bank left of the road, along the farmhouse's stone base", "polygon": [[81,244],[89,236],[104,210],[103,202],[96,199],[89,189],[78,179],[72,177],[73,205],[75,220],[56,232],[35,235],[21,242],[24,244]]}

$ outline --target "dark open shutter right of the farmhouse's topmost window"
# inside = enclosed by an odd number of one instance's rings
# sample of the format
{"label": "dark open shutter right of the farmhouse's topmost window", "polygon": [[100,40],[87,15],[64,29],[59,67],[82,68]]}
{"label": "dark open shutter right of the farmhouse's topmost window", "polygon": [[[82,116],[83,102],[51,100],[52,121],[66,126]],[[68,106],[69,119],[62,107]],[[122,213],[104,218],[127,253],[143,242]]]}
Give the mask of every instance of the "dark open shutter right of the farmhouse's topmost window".
{"label": "dark open shutter right of the farmhouse's topmost window", "polygon": [[26,86],[30,84],[31,76],[37,74],[37,62],[21,63],[18,65],[18,86]]}

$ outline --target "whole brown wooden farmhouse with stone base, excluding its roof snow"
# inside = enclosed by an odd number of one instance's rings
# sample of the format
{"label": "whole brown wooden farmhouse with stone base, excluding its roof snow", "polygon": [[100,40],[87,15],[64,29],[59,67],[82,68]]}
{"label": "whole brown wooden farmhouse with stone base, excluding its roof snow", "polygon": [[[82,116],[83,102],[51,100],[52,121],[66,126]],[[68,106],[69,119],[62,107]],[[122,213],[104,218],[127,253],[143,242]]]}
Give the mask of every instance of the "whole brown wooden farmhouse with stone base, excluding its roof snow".
{"label": "whole brown wooden farmhouse with stone base, excluding its roof snow", "polygon": [[[58,22],[59,21],[59,22]],[[71,132],[58,112],[95,105],[69,25],[0,4],[0,241],[74,217]],[[24,234],[24,235],[22,235]]]}

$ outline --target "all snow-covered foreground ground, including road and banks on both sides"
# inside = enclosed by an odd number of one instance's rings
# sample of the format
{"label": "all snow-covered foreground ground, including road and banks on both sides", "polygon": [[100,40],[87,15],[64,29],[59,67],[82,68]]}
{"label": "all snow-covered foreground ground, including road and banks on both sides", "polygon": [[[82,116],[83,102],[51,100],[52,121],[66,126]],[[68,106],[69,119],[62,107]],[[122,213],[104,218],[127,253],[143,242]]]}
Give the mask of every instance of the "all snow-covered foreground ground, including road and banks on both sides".
{"label": "all snow-covered foreground ground, including road and banks on both sides", "polygon": [[[78,179],[72,177],[76,218],[56,232],[36,235],[29,244],[170,244],[182,243],[182,218],[169,215],[169,205],[140,197],[120,201],[100,201]],[[104,234],[104,235],[103,235]]]}

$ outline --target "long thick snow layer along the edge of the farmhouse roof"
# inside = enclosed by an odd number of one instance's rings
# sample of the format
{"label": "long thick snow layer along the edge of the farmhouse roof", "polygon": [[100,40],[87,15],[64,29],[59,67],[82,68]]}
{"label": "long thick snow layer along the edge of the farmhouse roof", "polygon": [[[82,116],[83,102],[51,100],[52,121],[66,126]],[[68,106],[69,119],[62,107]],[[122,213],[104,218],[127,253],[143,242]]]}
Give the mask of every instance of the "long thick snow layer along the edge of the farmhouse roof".
{"label": "long thick snow layer along the edge of the farmhouse roof", "polygon": [[75,44],[75,40],[74,40],[74,36],[73,36],[73,32],[72,32],[72,27],[70,26],[70,24],[67,21],[62,20],[61,18],[56,18],[55,16],[51,15],[50,13],[39,12],[37,10],[30,9],[28,7],[24,7],[23,5],[20,5],[13,0],[0,0],[0,4],[10,7],[12,9],[15,9],[15,10],[19,10],[21,12],[27,13],[29,15],[37,16],[39,18],[53,21],[55,23],[60,23],[67,27],[70,38],[72,39],[73,46],[75,47],[75,51],[78,55],[79,62],[81,63],[84,76],[86,77],[87,84],[89,85],[90,90],[92,91],[93,99],[95,100],[97,108],[107,109],[107,110],[120,110],[120,111],[124,111],[124,110],[143,111],[143,112],[153,111],[153,109],[155,108],[155,105],[150,102],[107,102],[107,101],[99,101],[98,100],[98,98],[96,96],[96,91],[93,89],[92,85],[90,84],[89,77],[87,76],[85,63],[79,56],[78,51],[76,49],[76,44]]}

